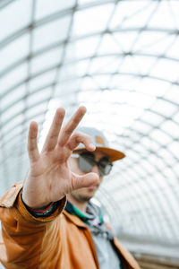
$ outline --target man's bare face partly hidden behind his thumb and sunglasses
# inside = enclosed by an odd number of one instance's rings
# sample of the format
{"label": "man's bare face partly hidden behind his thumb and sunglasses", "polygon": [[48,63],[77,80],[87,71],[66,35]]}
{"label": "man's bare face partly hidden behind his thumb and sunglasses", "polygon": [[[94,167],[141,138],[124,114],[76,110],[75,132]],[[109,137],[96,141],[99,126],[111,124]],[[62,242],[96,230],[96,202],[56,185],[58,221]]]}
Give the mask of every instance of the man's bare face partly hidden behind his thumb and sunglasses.
{"label": "man's bare face partly hidden behind his thumb and sunglasses", "polygon": [[[107,154],[104,152],[95,151],[95,152],[93,152],[93,154],[95,155],[95,161],[99,161],[100,159],[107,157]],[[83,172],[79,168],[78,158],[71,158],[69,164],[70,164],[70,168],[71,168],[72,172],[79,174],[79,175],[86,174],[86,172]],[[90,198],[92,198],[92,196],[95,195],[96,191],[98,190],[98,187],[100,186],[100,184],[103,180],[103,176],[101,176],[99,174],[97,165],[95,165],[93,167],[93,169],[90,170],[90,172],[98,174],[99,182],[95,186],[82,187],[81,189],[73,191],[71,195],[72,195],[73,199],[77,200],[78,202],[88,202],[90,200]]]}

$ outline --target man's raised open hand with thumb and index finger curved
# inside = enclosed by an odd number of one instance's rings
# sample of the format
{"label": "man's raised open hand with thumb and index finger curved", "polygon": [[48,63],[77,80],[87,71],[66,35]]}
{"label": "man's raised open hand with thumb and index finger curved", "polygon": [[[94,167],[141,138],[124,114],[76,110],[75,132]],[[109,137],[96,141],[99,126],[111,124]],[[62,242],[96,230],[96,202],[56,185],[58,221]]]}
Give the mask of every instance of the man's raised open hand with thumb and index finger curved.
{"label": "man's raised open hand with thumb and index finger curved", "polygon": [[57,109],[40,154],[37,145],[38,126],[31,123],[28,143],[30,173],[23,187],[23,200],[29,206],[41,207],[60,200],[73,189],[90,186],[98,180],[97,175],[92,173],[83,177],[75,175],[68,166],[72,150],[79,143],[84,143],[90,151],[94,150],[89,136],[72,134],[84,114],[85,108],[79,108],[67,125],[61,128],[64,109]]}

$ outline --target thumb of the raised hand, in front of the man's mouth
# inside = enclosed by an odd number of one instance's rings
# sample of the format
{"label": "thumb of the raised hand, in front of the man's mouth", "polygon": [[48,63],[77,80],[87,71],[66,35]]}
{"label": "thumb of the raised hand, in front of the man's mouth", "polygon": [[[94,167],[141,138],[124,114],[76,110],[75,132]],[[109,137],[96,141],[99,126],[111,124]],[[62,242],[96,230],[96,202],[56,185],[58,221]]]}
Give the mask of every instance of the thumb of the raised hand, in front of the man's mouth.
{"label": "thumb of the raised hand, in front of the man's mouth", "polygon": [[74,174],[73,189],[78,189],[81,187],[90,187],[98,184],[99,178],[97,173],[88,173],[82,176]]}

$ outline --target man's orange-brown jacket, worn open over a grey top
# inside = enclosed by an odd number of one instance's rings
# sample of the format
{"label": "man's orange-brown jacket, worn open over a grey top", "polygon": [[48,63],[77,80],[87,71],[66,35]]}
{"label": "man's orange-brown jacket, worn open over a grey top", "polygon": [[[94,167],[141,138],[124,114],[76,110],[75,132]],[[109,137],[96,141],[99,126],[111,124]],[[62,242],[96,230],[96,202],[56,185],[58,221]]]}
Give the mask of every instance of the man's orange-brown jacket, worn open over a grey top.
{"label": "man's orange-brown jacket, worn open over a grey top", "polygon": [[[8,269],[99,269],[87,226],[66,213],[66,199],[47,218],[35,218],[21,202],[22,182],[0,200],[0,261]],[[140,269],[131,254],[114,239],[124,269]]]}

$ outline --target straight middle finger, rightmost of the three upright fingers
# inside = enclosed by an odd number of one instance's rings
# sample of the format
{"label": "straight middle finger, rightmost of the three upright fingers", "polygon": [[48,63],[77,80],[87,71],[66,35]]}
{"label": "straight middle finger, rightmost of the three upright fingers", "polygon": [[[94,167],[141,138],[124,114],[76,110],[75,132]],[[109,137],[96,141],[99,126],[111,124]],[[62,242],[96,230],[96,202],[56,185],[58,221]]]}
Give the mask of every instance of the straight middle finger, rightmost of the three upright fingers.
{"label": "straight middle finger, rightmost of the three upright fingers", "polygon": [[68,123],[64,126],[58,138],[58,144],[60,146],[63,146],[65,143],[68,142],[69,138],[72,135],[72,132],[79,125],[86,111],[87,109],[84,106],[78,108],[78,110],[74,113],[74,115],[71,117]]}

